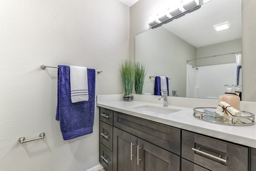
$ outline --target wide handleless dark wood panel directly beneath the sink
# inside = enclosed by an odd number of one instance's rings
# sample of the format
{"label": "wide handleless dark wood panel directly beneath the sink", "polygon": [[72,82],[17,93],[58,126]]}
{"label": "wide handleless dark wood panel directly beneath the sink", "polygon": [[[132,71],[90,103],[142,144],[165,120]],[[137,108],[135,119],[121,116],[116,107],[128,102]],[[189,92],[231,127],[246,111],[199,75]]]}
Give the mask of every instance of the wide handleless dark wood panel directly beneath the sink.
{"label": "wide handleless dark wood panel directly beneath the sink", "polygon": [[180,129],[114,112],[114,126],[180,155]]}

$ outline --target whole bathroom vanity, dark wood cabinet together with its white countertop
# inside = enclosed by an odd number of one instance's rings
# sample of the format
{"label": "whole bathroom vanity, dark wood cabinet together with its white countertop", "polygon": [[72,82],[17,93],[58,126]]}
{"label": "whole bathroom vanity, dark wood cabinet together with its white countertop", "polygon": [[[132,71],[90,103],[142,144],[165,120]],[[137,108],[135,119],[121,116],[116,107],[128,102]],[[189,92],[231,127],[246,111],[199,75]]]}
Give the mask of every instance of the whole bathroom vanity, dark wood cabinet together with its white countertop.
{"label": "whole bathroom vanity, dark wood cabinet together with its white countertop", "polygon": [[[98,100],[97,105],[99,159],[106,171],[256,171],[256,139],[244,144],[235,140],[239,132],[234,133],[244,128],[253,131],[255,125],[234,127],[199,121],[189,107],[169,106],[167,110],[176,111],[163,114],[166,108],[160,104],[142,101]],[[160,113],[146,111],[149,105]],[[192,117],[186,115],[189,112]],[[191,123],[186,123],[189,120]],[[202,128],[195,129],[198,126],[193,122],[202,122]]]}

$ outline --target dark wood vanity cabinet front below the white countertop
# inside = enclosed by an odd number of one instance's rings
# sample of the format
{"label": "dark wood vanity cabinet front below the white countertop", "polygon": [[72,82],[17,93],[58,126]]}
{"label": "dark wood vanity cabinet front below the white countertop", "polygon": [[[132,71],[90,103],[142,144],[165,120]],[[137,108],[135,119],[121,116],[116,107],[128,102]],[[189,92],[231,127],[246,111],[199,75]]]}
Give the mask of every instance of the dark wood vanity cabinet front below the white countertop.
{"label": "dark wood vanity cabinet front below the white countertop", "polygon": [[99,114],[106,171],[256,171],[255,148],[102,107]]}

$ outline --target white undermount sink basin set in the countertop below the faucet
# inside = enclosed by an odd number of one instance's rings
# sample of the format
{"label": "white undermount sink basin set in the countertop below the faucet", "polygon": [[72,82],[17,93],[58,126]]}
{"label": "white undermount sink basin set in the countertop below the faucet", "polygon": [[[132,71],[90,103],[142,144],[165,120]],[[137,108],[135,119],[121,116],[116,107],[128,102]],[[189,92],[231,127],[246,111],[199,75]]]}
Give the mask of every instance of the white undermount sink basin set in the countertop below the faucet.
{"label": "white undermount sink basin set in the countertop below the faucet", "polygon": [[161,114],[170,114],[177,111],[180,111],[178,109],[172,109],[168,107],[157,107],[157,106],[150,106],[150,105],[143,105],[143,106],[135,106],[134,109],[138,109],[142,112],[154,112],[154,113],[161,113]]}

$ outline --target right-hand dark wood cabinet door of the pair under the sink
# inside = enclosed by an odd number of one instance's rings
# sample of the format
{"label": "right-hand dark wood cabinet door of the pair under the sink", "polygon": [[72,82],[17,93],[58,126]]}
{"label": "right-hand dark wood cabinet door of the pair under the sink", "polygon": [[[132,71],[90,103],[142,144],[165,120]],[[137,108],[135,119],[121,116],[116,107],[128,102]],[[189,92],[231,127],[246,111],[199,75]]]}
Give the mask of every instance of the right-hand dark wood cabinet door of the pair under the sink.
{"label": "right-hand dark wood cabinet door of the pair under the sink", "polygon": [[137,155],[137,171],[180,170],[179,156],[139,138]]}

